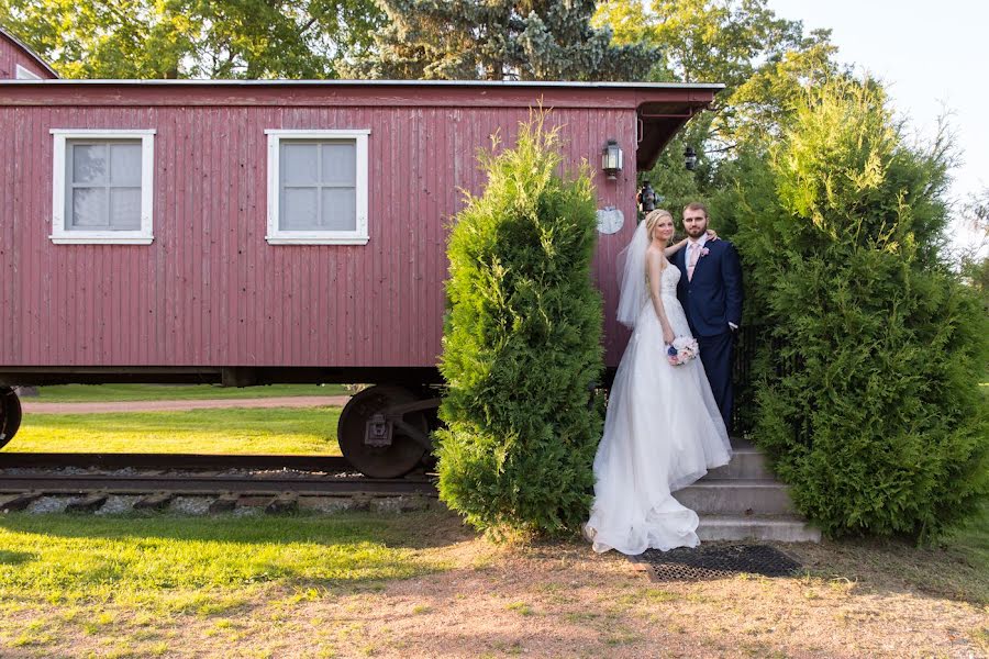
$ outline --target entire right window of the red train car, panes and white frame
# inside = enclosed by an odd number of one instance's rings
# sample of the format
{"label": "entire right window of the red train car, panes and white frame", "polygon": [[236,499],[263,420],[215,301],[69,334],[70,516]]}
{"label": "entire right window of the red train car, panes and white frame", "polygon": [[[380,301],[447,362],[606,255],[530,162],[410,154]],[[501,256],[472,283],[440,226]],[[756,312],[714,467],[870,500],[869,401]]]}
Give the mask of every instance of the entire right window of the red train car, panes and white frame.
{"label": "entire right window of the red train car, panes and white frame", "polygon": [[369,130],[267,130],[271,245],[366,245]]}

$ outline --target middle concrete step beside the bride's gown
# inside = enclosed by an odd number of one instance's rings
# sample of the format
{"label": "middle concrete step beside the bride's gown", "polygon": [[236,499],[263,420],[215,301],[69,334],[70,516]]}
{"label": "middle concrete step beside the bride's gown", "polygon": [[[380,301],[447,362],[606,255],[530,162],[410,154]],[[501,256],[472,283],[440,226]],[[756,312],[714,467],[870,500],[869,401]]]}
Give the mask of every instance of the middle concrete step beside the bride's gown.
{"label": "middle concrete step beside the bride's gown", "polygon": [[702,479],[674,492],[674,498],[699,515],[786,515],[793,512],[787,487],[769,479]]}

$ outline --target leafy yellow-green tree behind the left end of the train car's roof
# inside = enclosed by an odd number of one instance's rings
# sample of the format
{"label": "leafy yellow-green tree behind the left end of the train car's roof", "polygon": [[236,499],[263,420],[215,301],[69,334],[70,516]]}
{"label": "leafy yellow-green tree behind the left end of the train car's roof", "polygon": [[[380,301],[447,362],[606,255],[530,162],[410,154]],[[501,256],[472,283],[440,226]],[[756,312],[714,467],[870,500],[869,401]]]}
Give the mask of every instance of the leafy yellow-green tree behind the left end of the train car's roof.
{"label": "leafy yellow-green tree behind the left end of the train car's roof", "polygon": [[0,0],[0,24],[66,78],[333,78],[374,0]]}

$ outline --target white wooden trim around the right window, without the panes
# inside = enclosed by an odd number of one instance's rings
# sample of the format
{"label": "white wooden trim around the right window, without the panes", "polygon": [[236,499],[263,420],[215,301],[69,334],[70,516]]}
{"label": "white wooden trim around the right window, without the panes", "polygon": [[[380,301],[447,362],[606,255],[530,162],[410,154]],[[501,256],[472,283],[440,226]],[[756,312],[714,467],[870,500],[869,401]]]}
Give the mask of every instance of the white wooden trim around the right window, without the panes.
{"label": "white wooden trim around the right window, without the panes", "polygon": [[[281,130],[268,129],[268,234],[269,245],[367,245],[367,136],[369,130]],[[356,143],[356,209],[354,231],[284,231],[278,228],[280,179],[279,145],[282,139],[354,139]]]}

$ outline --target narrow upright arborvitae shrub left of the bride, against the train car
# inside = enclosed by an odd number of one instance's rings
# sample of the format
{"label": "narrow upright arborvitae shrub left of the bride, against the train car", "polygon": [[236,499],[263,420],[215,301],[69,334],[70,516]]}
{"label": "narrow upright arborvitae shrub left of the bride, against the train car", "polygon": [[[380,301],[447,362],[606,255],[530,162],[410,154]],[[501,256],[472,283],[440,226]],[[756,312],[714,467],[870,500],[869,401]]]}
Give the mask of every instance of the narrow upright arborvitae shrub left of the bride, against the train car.
{"label": "narrow upright arborvitae shrub left of the bride, against the train car", "polygon": [[534,114],[514,148],[480,156],[487,188],[451,233],[437,456],[441,499],[475,527],[557,534],[590,503],[602,308],[589,170],[560,176],[558,130],[544,122]]}

